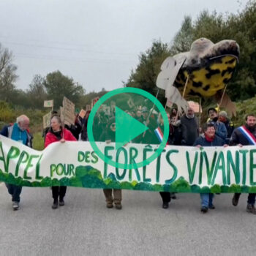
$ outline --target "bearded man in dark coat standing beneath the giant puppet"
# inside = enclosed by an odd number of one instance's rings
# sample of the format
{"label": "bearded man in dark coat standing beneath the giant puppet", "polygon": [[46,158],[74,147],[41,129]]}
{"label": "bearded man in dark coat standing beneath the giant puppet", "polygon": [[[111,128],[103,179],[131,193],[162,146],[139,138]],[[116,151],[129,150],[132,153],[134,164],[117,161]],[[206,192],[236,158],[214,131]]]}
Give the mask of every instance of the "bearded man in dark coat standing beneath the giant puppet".
{"label": "bearded man in dark coat standing beneath the giant puppet", "polygon": [[194,110],[188,108],[187,113],[181,116],[181,145],[193,146],[198,137],[198,124]]}

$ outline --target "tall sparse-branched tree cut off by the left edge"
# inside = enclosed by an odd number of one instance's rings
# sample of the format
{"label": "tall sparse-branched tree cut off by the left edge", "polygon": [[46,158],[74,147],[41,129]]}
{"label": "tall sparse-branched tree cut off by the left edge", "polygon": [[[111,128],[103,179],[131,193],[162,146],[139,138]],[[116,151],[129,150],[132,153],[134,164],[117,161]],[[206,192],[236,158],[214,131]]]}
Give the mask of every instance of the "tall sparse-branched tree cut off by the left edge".
{"label": "tall sparse-branched tree cut off by the left edge", "polygon": [[12,64],[12,52],[0,43],[0,99],[10,102],[10,96],[15,89],[15,74],[17,67]]}

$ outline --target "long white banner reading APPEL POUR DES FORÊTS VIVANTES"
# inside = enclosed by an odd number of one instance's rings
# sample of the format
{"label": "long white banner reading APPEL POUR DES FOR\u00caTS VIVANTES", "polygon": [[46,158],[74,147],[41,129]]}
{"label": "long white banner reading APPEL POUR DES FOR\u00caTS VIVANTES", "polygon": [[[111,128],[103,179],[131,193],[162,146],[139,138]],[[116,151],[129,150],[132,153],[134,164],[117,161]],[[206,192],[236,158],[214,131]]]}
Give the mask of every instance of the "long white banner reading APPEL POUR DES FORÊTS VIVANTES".
{"label": "long white banner reading APPEL POUR DES FOR\u00caTS VIVANTES", "polygon": [[[135,143],[117,150],[114,143],[97,146],[124,165],[150,157],[157,148]],[[255,193],[256,147],[166,146],[153,162],[129,170],[103,162],[89,142],[56,142],[36,151],[0,136],[0,181],[28,187]]]}

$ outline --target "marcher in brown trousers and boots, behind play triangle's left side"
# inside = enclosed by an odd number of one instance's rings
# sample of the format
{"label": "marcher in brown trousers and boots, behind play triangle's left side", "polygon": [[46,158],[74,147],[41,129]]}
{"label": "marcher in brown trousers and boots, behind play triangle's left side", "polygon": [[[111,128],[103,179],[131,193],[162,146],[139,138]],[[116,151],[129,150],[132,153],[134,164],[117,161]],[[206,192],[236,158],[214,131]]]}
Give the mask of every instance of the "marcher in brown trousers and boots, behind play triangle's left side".
{"label": "marcher in brown trousers and boots, behind play triangle's left side", "polygon": [[[107,129],[103,132],[100,141],[105,141],[106,143],[116,141],[116,118],[110,118]],[[113,203],[115,203],[116,209],[121,210],[121,189],[103,189],[103,192],[107,208],[113,208]]]}

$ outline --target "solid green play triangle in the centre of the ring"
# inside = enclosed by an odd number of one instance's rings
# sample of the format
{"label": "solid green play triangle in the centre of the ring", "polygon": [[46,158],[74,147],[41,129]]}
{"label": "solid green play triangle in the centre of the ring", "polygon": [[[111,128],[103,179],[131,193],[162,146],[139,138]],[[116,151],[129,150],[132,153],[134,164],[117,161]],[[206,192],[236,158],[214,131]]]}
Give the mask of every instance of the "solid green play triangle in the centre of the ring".
{"label": "solid green play triangle in the centre of the ring", "polygon": [[146,132],[147,129],[146,125],[116,107],[116,150]]}

